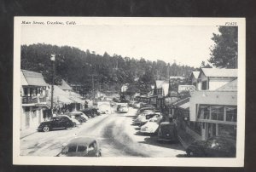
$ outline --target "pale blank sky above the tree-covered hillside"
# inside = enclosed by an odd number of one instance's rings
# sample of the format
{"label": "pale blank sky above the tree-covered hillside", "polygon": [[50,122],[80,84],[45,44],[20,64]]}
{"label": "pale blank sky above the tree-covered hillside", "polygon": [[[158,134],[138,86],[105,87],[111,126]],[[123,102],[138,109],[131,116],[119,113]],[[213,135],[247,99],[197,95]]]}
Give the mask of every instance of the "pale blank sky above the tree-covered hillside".
{"label": "pale blank sky above the tree-covered hillside", "polygon": [[22,26],[21,44],[68,45],[96,54],[198,67],[210,58],[217,26]]}

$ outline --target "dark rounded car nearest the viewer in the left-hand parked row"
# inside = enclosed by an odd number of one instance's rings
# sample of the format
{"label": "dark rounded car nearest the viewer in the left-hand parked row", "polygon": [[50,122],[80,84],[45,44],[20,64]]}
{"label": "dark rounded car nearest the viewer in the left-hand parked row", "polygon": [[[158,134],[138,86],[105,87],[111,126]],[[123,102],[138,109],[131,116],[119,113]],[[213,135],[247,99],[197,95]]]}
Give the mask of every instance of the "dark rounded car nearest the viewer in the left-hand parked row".
{"label": "dark rounded car nearest the viewer in the left-hand parked row", "polygon": [[49,121],[44,121],[38,126],[38,131],[48,132],[53,129],[68,129],[74,126],[72,120],[67,117],[54,117]]}

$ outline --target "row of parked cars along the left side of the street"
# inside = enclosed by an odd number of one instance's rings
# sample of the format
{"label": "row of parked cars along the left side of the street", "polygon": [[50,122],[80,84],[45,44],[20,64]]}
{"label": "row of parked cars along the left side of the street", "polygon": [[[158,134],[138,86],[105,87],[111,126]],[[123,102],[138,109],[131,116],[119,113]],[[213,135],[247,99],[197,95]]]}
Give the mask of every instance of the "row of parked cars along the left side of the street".
{"label": "row of parked cars along the left side of the street", "polygon": [[38,126],[38,131],[48,132],[54,129],[69,129],[85,123],[90,118],[101,115],[96,108],[86,108],[82,111],[69,112],[50,118]]}

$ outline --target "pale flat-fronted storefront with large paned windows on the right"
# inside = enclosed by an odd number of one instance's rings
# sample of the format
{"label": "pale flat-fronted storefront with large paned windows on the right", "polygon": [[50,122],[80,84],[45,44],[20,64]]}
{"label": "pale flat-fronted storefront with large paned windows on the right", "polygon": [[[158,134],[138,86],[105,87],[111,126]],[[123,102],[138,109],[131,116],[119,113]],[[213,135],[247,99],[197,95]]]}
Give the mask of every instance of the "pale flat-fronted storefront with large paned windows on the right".
{"label": "pale flat-fronted storefront with large paned windows on the right", "polygon": [[220,135],[236,140],[237,91],[191,93],[189,120],[201,128],[201,140]]}

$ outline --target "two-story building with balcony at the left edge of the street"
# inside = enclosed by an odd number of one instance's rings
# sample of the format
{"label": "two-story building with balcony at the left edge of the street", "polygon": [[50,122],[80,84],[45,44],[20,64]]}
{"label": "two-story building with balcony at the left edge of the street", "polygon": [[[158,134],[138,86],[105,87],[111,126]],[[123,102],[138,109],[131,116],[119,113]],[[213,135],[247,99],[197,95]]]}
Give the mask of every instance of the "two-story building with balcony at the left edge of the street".
{"label": "two-story building with balcony at the left edge of the street", "polygon": [[21,70],[20,74],[20,130],[36,128],[44,120],[43,111],[49,109],[47,83],[41,73]]}

